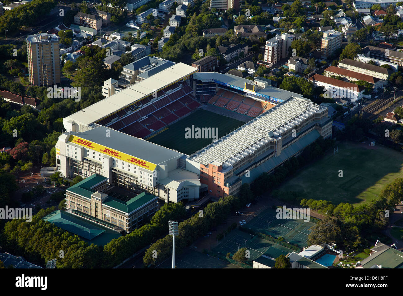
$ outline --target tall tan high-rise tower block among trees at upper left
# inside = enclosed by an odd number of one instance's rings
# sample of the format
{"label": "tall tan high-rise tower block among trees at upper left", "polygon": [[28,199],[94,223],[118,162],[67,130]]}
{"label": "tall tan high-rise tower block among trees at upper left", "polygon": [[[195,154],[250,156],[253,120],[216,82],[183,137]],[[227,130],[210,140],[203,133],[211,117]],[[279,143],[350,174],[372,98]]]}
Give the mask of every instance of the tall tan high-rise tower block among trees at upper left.
{"label": "tall tan high-rise tower block among trees at upper left", "polygon": [[29,35],[27,41],[28,73],[31,85],[60,83],[59,40],[55,34]]}

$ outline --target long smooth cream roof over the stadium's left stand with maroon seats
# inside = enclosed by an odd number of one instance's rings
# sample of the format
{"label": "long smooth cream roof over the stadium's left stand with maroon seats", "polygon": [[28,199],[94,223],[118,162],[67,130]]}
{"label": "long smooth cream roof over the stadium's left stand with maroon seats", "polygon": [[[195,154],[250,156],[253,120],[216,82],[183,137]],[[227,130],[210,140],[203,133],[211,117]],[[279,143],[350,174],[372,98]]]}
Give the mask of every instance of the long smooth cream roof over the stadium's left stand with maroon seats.
{"label": "long smooth cream roof over the stadium's left stand with maroon seats", "polygon": [[148,79],[140,81],[139,83],[94,103],[79,112],[71,114],[64,118],[64,120],[73,120],[77,124],[88,126],[97,120],[125,108],[139,99],[152,95],[154,91],[158,91],[159,89],[171,85],[196,71],[198,71],[196,68],[187,64],[174,64]]}

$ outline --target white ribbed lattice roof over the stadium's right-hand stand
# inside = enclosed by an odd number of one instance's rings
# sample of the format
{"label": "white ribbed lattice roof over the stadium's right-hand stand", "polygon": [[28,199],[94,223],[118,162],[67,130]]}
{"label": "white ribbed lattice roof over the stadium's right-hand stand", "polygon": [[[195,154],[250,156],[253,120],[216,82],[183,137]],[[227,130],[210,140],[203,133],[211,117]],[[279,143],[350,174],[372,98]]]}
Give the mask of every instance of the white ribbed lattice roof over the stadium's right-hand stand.
{"label": "white ribbed lattice roof over the stadium's right-hand stand", "polygon": [[289,98],[240,128],[193,153],[189,160],[223,168],[232,166],[259,147],[314,114],[320,107],[309,100]]}

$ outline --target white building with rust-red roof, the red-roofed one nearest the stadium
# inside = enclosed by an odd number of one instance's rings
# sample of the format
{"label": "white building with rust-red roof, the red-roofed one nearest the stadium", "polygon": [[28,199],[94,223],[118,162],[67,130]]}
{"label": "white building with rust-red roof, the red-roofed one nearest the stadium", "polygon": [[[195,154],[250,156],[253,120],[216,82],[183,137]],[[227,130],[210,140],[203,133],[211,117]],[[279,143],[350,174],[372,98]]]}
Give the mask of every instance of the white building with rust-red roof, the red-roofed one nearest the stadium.
{"label": "white building with rust-red roof, the red-roofed one nearest the stadium", "polygon": [[324,97],[326,99],[345,99],[355,102],[364,96],[365,87],[349,83],[343,80],[326,77],[323,75],[315,74],[308,78],[312,81],[315,87],[324,87]]}

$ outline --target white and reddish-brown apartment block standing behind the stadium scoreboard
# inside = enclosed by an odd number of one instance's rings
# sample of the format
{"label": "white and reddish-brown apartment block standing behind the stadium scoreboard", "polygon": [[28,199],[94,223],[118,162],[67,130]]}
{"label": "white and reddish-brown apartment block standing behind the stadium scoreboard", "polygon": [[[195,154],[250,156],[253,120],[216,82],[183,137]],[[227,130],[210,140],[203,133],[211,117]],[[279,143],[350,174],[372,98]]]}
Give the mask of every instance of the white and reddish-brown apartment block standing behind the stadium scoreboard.
{"label": "white and reddish-brown apartment block standing behind the stadium scoreboard", "polygon": [[287,58],[291,42],[294,40],[295,36],[287,33],[267,40],[264,46],[264,62],[271,64],[278,62],[281,58]]}

